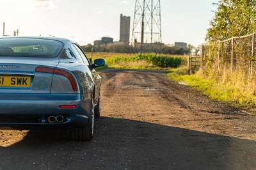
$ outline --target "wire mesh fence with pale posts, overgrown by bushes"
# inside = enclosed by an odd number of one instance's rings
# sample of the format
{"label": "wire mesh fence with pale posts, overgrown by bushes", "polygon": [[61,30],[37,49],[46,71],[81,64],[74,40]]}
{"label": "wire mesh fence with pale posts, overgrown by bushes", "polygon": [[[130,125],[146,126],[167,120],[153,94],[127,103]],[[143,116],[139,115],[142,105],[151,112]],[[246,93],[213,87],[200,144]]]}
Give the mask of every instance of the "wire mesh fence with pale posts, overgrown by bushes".
{"label": "wire mesh fence with pale posts, overgrown by bushes", "polygon": [[256,77],[256,33],[205,45],[203,65],[212,70]]}

